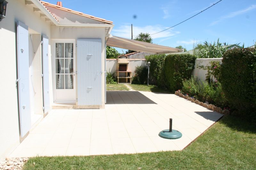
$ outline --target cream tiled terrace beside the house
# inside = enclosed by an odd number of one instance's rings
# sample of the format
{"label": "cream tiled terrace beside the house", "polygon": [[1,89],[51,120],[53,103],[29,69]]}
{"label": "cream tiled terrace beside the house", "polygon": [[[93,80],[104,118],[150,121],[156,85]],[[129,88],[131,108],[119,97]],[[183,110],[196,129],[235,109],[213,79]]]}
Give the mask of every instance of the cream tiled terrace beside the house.
{"label": "cream tiled terrace beside the house", "polygon": [[[108,91],[105,109],[53,109],[9,157],[182,150],[221,116],[174,94]],[[169,118],[180,139],[158,136]]]}

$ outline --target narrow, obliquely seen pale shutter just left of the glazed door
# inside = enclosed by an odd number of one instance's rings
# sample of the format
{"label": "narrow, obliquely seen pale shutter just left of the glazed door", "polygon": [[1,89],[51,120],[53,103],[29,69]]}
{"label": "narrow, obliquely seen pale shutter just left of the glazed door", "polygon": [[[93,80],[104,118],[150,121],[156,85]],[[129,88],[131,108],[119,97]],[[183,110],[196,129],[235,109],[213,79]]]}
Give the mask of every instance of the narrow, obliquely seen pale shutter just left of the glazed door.
{"label": "narrow, obliquely seen pale shutter just left of the glazed door", "polygon": [[42,35],[44,114],[50,110],[48,37]]}

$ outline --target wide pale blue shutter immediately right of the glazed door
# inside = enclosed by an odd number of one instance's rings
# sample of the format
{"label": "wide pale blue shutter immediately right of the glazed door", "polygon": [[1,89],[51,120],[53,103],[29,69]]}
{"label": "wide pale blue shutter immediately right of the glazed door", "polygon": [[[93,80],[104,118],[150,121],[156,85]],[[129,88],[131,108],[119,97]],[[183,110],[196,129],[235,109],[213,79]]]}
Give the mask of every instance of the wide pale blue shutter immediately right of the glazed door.
{"label": "wide pale blue shutter immediately right of the glazed door", "polygon": [[101,105],[101,40],[77,40],[77,103]]}

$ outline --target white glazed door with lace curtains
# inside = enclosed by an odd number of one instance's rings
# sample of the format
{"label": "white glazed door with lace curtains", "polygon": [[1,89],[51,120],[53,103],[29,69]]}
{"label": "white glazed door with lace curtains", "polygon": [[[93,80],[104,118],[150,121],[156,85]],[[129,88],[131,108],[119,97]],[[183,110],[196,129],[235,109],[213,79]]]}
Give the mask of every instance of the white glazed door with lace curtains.
{"label": "white glazed door with lace curtains", "polygon": [[55,102],[75,102],[75,43],[73,41],[56,41],[54,47]]}

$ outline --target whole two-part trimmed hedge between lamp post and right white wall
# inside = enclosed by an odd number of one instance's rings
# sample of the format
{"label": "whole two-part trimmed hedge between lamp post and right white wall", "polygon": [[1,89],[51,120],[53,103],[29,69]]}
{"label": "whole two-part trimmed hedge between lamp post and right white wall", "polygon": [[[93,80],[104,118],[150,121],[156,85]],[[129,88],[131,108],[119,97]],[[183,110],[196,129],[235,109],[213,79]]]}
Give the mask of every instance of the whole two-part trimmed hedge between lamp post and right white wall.
{"label": "whole two-part trimmed hedge between lamp post and right white wall", "polygon": [[190,54],[149,55],[145,57],[150,62],[150,83],[171,92],[182,88],[182,81],[191,77],[196,56]]}

